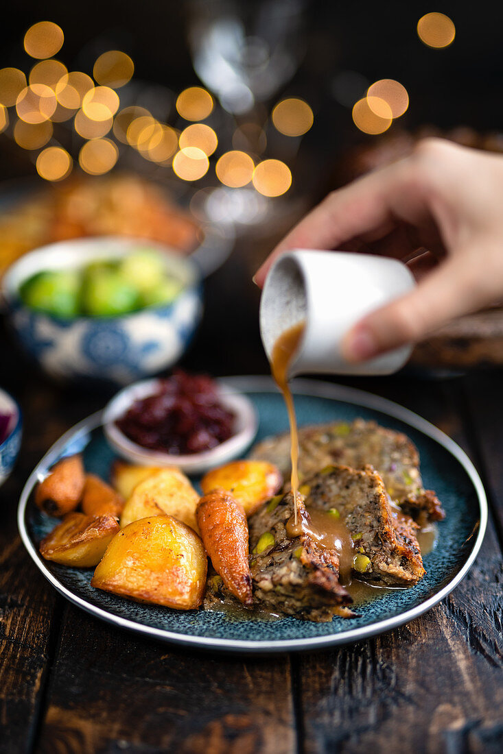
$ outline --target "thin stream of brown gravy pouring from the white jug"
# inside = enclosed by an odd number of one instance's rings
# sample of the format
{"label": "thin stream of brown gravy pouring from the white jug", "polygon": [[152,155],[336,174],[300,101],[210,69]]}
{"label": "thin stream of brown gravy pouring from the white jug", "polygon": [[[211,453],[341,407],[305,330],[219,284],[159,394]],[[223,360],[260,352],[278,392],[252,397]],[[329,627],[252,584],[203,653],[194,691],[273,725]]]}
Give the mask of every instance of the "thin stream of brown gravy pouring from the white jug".
{"label": "thin stream of brown gravy pouring from the white jug", "polygon": [[[286,409],[289,412],[290,423],[290,455],[292,456],[292,492],[295,501],[295,525],[297,522],[297,493],[298,493],[298,433],[297,433],[297,419],[295,417],[295,406],[292,397],[292,391],[289,388],[289,366],[292,363],[292,358],[295,356],[298,345],[301,342],[301,337],[304,335],[304,328],[306,323],[304,321],[298,322],[293,327],[285,330],[279,338],[276,340],[273,348],[273,358],[270,363],[271,372],[273,372],[273,378],[282,391],[283,398],[285,399]],[[300,532],[299,532],[300,534]],[[296,535],[298,536],[298,535]]]}

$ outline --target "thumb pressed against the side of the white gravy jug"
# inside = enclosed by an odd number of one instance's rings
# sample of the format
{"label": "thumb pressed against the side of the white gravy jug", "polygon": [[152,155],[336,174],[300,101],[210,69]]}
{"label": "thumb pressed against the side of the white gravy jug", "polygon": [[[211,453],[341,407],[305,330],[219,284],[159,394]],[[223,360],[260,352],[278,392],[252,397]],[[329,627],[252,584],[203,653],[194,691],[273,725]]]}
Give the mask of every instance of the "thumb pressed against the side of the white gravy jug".
{"label": "thumb pressed against the side of the white gravy jug", "polygon": [[344,337],[350,363],[415,342],[449,320],[488,303],[462,260],[449,259],[411,293],[368,314]]}

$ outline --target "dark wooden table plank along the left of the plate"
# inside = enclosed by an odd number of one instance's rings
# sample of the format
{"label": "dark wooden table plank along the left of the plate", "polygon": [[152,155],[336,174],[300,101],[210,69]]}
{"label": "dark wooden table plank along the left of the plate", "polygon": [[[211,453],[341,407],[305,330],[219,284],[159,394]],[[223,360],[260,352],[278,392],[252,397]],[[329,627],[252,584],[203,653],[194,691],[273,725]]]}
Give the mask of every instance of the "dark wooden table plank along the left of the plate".
{"label": "dark wooden table plank along the left of the plate", "polygon": [[[25,398],[22,389],[18,395]],[[34,403],[29,396],[23,400],[20,458],[0,491],[0,752],[6,754],[28,750],[35,734],[57,604],[54,590],[29,559],[17,534],[17,500],[23,483],[61,431],[60,425],[48,425],[43,412],[30,410]]]}

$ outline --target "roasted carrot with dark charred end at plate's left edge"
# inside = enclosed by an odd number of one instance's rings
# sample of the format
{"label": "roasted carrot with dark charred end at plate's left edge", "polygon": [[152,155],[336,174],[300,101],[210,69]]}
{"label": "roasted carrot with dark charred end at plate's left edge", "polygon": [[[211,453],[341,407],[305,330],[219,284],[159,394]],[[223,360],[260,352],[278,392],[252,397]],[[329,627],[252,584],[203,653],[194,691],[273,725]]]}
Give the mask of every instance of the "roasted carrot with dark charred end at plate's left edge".
{"label": "roasted carrot with dark charred end at plate's left edge", "polygon": [[35,504],[50,516],[64,516],[79,505],[85,472],[80,455],[62,458],[35,489]]}

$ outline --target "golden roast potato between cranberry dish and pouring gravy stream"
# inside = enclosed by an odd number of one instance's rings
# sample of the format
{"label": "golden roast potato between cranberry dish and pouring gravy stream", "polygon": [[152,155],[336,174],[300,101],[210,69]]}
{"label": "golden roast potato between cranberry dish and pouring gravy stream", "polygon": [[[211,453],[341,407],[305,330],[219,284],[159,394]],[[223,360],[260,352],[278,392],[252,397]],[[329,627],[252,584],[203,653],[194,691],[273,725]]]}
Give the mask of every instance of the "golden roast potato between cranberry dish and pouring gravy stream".
{"label": "golden roast potato between cranberry dish and pouring gravy stream", "polygon": [[282,476],[267,461],[231,461],[212,469],[202,477],[201,489],[205,495],[213,489],[226,489],[236,502],[242,504],[251,516],[282,487]]}

